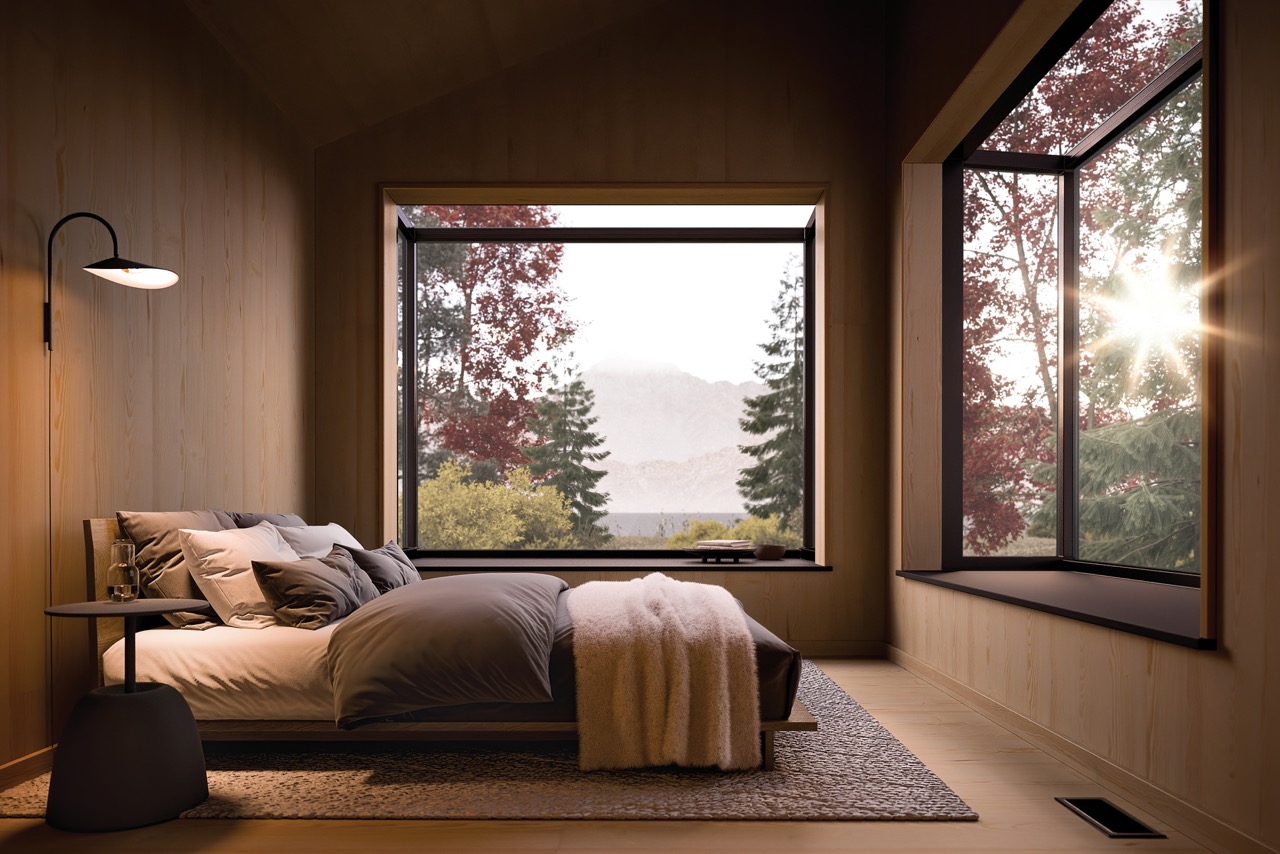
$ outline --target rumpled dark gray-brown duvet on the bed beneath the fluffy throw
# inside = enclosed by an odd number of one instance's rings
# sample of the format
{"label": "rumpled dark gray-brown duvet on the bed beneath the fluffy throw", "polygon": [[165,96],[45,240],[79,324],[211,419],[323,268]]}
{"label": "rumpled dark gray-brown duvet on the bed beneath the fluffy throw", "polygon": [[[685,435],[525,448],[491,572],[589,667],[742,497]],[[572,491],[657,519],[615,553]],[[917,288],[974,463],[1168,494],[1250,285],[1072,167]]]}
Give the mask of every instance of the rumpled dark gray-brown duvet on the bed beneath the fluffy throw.
{"label": "rumpled dark gray-brown duvet on the bed beneath the fluffy throw", "polygon": [[[390,590],[338,624],[328,667],[335,721],[575,721],[568,589],[530,572],[453,575]],[[785,720],[800,653],[744,615],[760,718]]]}

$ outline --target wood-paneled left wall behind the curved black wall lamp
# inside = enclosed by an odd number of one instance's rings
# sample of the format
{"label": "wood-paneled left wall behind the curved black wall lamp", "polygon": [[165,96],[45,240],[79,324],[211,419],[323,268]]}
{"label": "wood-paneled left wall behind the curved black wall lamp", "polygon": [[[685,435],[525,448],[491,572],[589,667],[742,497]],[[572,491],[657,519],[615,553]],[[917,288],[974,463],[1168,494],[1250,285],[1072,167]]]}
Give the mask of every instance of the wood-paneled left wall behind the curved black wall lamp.
{"label": "wood-paneled left wall behind the curved black wall lamp", "polygon": [[[177,3],[0,4],[0,68],[4,764],[50,744],[92,684],[88,621],[44,616],[86,597],[81,520],[310,511],[312,160]],[[47,353],[45,245],[78,210],[180,280],[83,273],[110,238],[69,223]]]}

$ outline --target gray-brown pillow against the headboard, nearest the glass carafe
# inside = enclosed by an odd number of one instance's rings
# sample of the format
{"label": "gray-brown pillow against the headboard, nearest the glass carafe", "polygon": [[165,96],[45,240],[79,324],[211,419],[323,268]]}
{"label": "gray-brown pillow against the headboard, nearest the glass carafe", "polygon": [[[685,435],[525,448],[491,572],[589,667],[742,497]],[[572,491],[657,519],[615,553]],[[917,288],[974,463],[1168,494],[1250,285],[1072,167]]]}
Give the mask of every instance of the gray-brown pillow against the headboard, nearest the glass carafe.
{"label": "gray-brown pillow against the headboard, nearest the glass carafe", "polygon": [[[218,510],[180,510],[172,512],[118,511],[115,521],[137,547],[136,561],[142,581],[142,595],[151,599],[204,599],[182,557],[178,529],[221,531],[234,528],[230,517]],[[179,629],[209,629],[221,620],[214,612],[178,611],[165,620]]]}

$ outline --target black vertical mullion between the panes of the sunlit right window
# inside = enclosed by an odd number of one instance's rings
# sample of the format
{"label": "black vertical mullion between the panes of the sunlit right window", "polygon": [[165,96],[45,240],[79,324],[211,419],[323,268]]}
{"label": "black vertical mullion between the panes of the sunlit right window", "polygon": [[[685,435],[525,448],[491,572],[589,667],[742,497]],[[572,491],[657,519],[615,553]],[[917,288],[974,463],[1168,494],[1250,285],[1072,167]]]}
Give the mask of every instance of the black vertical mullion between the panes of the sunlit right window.
{"label": "black vertical mullion between the panes of the sunlit right window", "polygon": [[1080,173],[1059,177],[1057,553],[1079,557]]}

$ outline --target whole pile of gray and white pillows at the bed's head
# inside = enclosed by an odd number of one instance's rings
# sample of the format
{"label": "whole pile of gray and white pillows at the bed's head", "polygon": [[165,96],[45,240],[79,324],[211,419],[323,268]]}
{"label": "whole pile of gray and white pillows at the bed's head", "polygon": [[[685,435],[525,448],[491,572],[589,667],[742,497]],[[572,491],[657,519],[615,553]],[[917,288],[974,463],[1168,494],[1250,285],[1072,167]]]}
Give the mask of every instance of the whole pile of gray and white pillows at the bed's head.
{"label": "whole pile of gray and white pillows at the bed's head", "polygon": [[137,545],[142,593],[206,599],[214,615],[166,615],[182,629],[319,629],[420,579],[394,540],[365,549],[342,525],[293,513],[118,512]]}

